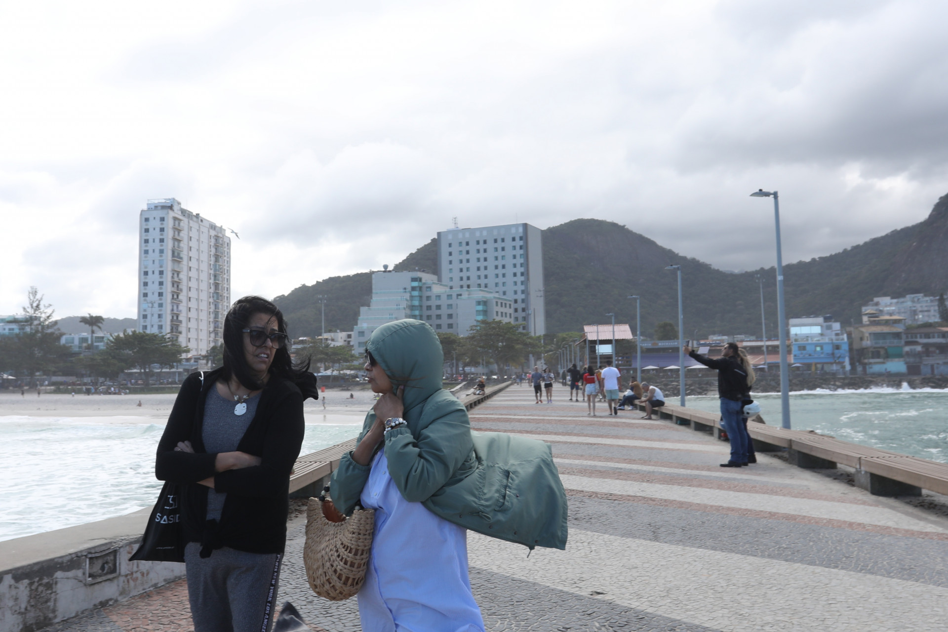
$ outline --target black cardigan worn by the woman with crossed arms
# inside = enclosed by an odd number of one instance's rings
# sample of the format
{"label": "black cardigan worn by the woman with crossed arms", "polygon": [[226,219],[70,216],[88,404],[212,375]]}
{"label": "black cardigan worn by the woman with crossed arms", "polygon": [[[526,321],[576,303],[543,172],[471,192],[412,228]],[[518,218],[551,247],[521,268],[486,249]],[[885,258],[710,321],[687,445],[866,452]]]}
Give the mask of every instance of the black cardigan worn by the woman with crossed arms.
{"label": "black cardigan worn by the woman with crossed arms", "polygon": [[[290,472],[304,432],[301,389],[272,375],[257,404],[257,412],[237,445],[237,451],[260,457],[260,465],[214,472],[216,453],[205,451],[201,431],[204,403],[221,370],[191,373],[174,401],[168,425],[158,442],[155,477],[181,485],[181,522],[186,541],[202,544],[201,556],[229,547],[251,553],[282,553],[286,544]],[[314,388],[307,389],[315,391]],[[307,395],[313,396],[312,392]],[[178,442],[190,441],[194,454],[175,452]],[[208,487],[198,480],[214,478],[214,489],[227,492],[220,522],[206,520]]]}

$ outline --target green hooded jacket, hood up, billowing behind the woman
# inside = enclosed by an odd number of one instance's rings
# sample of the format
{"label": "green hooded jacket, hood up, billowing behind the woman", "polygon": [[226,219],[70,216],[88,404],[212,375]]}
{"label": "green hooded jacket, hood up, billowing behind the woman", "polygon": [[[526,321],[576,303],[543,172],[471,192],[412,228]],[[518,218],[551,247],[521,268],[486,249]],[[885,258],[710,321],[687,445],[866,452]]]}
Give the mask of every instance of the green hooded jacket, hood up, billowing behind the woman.
{"label": "green hooded jacket, hood up, billowing behind the woman", "polygon": [[[405,387],[408,425],[386,433],[384,447],[402,497],[477,533],[530,549],[565,549],[566,493],[550,446],[472,431],[465,406],[441,388],[444,353],[424,322],[382,325],[367,348],[392,385]],[[359,441],[374,422],[370,411]],[[352,514],[371,469],[352,453],[342,457],[330,492],[339,511]]]}

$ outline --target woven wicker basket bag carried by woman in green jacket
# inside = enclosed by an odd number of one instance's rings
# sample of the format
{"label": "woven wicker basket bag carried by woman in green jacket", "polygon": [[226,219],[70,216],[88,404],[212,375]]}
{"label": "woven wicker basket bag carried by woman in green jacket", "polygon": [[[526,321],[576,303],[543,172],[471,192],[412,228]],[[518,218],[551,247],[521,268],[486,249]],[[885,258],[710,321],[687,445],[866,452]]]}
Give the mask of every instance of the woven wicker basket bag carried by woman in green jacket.
{"label": "woven wicker basket bag carried by woman in green jacket", "polygon": [[365,582],[374,526],[372,509],[356,507],[345,517],[324,495],[309,499],[302,561],[313,592],[334,602],[356,595]]}

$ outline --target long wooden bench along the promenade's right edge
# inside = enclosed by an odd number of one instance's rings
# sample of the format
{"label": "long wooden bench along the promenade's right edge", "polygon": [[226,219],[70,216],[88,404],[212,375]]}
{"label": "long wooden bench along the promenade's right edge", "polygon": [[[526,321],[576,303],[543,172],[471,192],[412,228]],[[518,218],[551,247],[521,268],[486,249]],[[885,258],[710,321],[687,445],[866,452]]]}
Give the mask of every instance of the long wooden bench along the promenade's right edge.
{"label": "long wooden bench along the promenade's right edge", "polygon": [[[636,405],[640,410],[645,406]],[[665,404],[655,409],[661,419],[690,425],[693,430],[711,432],[721,438],[720,414]],[[788,430],[767,425],[758,415],[747,424],[757,452],[788,450],[790,462],[798,467],[835,468],[843,463],[855,469],[855,482],[875,496],[921,496],[927,489],[948,495],[948,463],[909,457],[879,448],[845,442],[807,430]]]}

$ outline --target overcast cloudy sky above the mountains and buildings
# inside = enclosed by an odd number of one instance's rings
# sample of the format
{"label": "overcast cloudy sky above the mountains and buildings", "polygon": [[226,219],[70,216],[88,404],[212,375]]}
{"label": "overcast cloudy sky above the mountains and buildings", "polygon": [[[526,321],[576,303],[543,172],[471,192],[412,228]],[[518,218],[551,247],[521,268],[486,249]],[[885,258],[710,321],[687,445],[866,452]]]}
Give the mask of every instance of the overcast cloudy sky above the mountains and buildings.
{"label": "overcast cloudy sky above the mountains and buildings", "polygon": [[608,219],[724,269],[948,192],[943,2],[4,3],[0,314],[134,316],[137,217],[224,226],[232,295],[394,263],[457,217]]}

